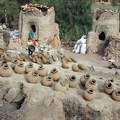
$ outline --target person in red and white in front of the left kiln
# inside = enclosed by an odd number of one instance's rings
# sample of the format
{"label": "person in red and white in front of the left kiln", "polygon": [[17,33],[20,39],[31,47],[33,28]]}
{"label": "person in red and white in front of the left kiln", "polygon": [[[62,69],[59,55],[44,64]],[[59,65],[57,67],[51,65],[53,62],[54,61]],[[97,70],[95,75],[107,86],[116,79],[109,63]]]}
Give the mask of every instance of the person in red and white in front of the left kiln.
{"label": "person in red and white in front of the left kiln", "polygon": [[37,41],[38,40],[31,39],[31,38],[28,39],[28,56],[32,55],[33,52],[35,51],[38,45]]}

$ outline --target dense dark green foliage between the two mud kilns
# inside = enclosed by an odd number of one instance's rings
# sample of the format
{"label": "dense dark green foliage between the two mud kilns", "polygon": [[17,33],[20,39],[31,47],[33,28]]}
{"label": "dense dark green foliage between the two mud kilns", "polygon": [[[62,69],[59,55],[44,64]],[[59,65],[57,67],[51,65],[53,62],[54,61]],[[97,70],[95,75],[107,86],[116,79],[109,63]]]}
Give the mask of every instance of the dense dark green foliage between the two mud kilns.
{"label": "dense dark green foliage between the two mud kilns", "polygon": [[59,24],[60,36],[77,40],[91,29],[92,3],[88,0],[49,0],[48,5],[55,7],[56,22]]}

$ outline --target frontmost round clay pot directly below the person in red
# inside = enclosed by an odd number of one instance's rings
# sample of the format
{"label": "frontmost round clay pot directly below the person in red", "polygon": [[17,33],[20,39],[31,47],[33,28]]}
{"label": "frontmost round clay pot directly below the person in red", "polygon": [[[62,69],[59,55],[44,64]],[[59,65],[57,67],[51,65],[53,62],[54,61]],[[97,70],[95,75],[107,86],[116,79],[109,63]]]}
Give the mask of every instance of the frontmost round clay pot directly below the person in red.
{"label": "frontmost round clay pot directly below the person in red", "polygon": [[26,75],[26,81],[28,83],[34,83],[36,84],[39,80],[39,73],[37,70],[35,71],[30,71],[27,75]]}

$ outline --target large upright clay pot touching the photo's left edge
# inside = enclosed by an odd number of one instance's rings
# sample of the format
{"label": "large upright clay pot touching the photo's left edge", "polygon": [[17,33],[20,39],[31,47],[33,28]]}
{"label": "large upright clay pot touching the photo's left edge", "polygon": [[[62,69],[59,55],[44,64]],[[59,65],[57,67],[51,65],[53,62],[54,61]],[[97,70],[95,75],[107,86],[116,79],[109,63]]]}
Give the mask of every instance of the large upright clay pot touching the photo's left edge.
{"label": "large upright clay pot touching the photo's left edge", "polygon": [[4,64],[1,68],[0,68],[0,75],[2,77],[9,77],[12,75],[12,68],[8,66],[8,64]]}

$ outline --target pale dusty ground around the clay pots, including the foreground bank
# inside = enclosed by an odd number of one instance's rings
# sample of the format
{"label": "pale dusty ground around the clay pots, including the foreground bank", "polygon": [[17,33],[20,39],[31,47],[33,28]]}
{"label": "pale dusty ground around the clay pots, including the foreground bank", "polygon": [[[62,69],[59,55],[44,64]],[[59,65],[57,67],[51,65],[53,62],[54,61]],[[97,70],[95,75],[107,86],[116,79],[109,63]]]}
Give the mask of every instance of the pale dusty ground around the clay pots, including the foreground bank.
{"label": "pale dusty ground around the clay pots, including the foreground bank", "polygon": [[[72,64],[74,64],[73,62],[68,63],[69,69],[63,69],[60,61],[54,62],[51,65],[45,64],[44,67],[49,72],[54,67],[58,68],[62,74],[61,79],[75,75],[79,80],[82,75],[89,73],[91,78],[96,79],[99,84],[96,99],[90,102],[90,104],[86,102],[81,95],[81,91],[84,89],[82,90],[79,86],[74,89],[70,88],[66,93],[59,93],[55,92],[53,87],[47,88],[42,86],[40,82],[35,85],[27,83],[25,75],[18,75],[13,72],[13,75],[9,78],[0,77],[0,90],[1,93],[3,92],[0,99],[0,120],[82,120],[86,115],[84,114],[85,111],[88,111],[87,114],[91,115],[91,120],[119,120],[120,114],[118,111],[116,112],[116,117],[112,114],[112,110],[120,110],[120,104],[113,101],[110,96],[103,92],[102,85],[104,81],[109,79],[114,79],[117,84],[120,84],[120,75],[115,75],[115,72],[118,71],[120,73],[120,70],[115,68],[108,69],[108,61],[102,60],[102,56],[97,54],[75,54],[72,52],[72,47],[63,46],[63,48],[67,57],[72,56],[77,60],[75,64],[83,63],[88,68],[93,65],[94,70],[73,72],[71,69]],[[26,62],[25,65],[27,64]],[[36,69],[38,68],[37,64],[34,64],[34,66]],[[25,99],[21,103],[5,101],[3,96],[7,93],[8,89],[18,87],[21,83],[24,84],[22,92],[26,95]],[[63,104],[61,104],[61,100]],[[69,101],[65,102],[66,100]],[[101,107],[99,107],[99,104]],[[111,104],[114,107],[111,108]],[[78,109],[79,106],[81,108]],[[83,106],[86,106],[86,109],[83,109]],[[106,109],[103,109],[104,107]],[[67,110],[70,114],[67,113]],[[63,115],[64,112],[65,114]]]}

